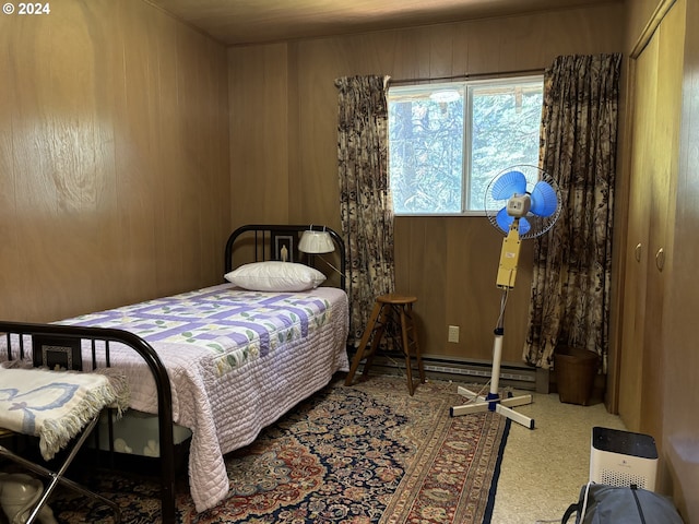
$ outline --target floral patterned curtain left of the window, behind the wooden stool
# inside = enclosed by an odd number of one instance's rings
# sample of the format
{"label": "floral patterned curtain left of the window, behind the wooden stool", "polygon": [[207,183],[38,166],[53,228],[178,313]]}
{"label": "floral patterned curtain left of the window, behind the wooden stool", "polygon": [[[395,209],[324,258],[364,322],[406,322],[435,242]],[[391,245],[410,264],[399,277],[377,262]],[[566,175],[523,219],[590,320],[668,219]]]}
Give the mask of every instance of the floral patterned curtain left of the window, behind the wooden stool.
{"label": "floral patterned curtain left of the window, behind the wooden stool", "polygon": [[376,297],[394,289],[393,205],[388,174],[388,76],[337,79],[340,212],[346,243],[350,343]]}

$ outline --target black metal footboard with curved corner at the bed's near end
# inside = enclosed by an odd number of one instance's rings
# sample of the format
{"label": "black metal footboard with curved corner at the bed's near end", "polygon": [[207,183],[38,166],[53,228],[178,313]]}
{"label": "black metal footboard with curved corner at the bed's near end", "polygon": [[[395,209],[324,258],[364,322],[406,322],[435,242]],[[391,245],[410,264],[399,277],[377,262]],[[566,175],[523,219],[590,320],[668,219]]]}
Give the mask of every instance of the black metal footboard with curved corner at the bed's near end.
{"label": "black metal footboard with curved corner at the bed's near end", "polygon": [[[0,321],[0,336],[4,337],[4,346],[0,342],[2,356],[0,360],[16,360],[28,357],[26,345],[31,341],[33,347],[49,347],[49,355],[70,362],[85,358],[80,355],[82,343],[88,342],[92,347],[92,366],[97,367],[97,343],[104,343],[106,366],[109,367],[109,343],[121,343],[131,347],[145,361],[157,388],[158,432],[161,443],[161,507],[164,523],[175,522],[175,443],[173,437],[173,392],[167,370],[155,349],[140,336],[128,331],[85,327],[79,325],[37,324]],[[0,338],[2,341],[2,338]],[[73,352],[78,350],[78,355]],[[7,353],[5,353],[7,352]],[[38,352],[35,352],[38,354]],[[47,352],[44,352],[46,357]],[[82,358],[81,358],[82,357]],[[35,356],[35,358],[37,358]],[[37,362],[35,359],[35,364]],[[43,364],[47,364],[44,361]],[[50,364],[50,362],[49,362]],[[105,365],[103,364],[103,366]],[[68,366],[80,369],[78,366]]]}

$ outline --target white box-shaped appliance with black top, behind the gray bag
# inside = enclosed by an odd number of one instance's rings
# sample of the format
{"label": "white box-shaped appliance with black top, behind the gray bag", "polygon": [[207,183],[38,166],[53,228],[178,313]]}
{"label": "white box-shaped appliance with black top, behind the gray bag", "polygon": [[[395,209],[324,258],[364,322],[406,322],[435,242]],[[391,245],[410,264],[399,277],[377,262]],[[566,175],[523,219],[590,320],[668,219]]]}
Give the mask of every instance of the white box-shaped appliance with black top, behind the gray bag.
{"label": "white box-shaped appliance with black top, behind the gray bag", "polygon": [[594,427],[591,448],[591,481],[655,490],[657,450],[650,434]]}

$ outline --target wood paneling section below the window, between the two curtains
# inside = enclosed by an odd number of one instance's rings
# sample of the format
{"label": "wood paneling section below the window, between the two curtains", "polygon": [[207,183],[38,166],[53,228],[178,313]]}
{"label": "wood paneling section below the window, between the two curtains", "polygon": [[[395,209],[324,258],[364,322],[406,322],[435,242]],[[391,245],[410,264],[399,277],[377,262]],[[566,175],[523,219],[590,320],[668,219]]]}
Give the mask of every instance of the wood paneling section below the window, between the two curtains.
{"label": "wood paneling section below the window, between the two curtains", "polygon": [[[501,291],[495,281],[502,238],[485,217],[396,218],[396,285],[418,297],[415,311],[428,342],[423,353],[490,360],[493,331],[500,312]],[[505,322],[505,342],[513,362],[526,336],[532,265],[529,242],[522,246],[521,261]],[[447,342],[449,325],[460,327],[458,343]]]}

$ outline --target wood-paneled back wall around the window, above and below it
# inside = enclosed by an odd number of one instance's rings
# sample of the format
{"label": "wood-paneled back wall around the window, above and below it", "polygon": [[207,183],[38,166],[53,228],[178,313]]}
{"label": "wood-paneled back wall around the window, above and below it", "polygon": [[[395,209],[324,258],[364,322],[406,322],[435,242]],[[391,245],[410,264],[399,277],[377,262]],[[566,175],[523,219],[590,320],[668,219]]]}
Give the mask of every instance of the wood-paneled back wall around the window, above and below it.
{"label": "wood-paneled back wall around the window, above and below it", "polygon": [[[625,8],[458,22],[362,35],[230,48],[234,223],[268,216],[340,230],[334,80],[393,80],[541,69],[558,55],[620,51]],[[262,199],[262,195],[264,198]],[[396,286],[418,297],[426,354],[489,360],[500,305],[501,237],[484,217],[399,217]],[[503,360],[521,364],[531,246],[508,301]],[[447,342],[449,324],[461,327]]]}

